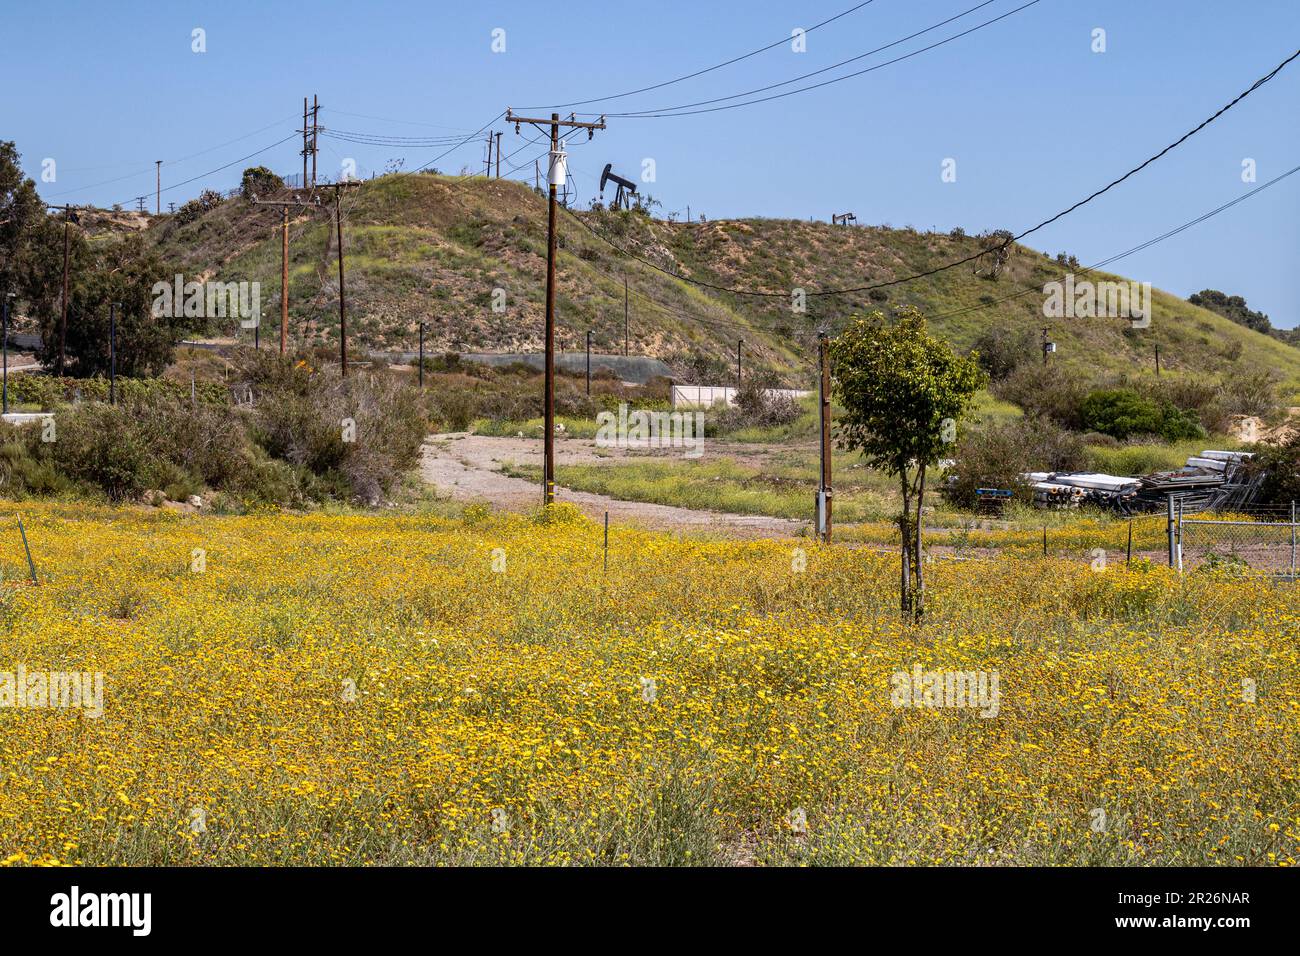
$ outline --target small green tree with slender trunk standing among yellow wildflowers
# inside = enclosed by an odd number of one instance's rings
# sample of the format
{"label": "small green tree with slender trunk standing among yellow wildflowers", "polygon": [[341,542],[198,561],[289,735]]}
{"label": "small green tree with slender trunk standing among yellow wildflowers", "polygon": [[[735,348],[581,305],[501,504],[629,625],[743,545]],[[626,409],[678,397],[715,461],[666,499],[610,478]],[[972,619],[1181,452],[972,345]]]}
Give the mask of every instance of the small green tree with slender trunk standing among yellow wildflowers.
{"label": "small green tree with slender trunk standing among yellow wildflowers", "polygon": [[897,324],[880,312],[858,319],[831,341],[832,393],[844,415],[840,445],[898,480],[902,512],[900,607],[919,620],[924,611],[922,506],[926,473],[949,453],[957,425],[987,382],[979,356],[959,356],[926,329],[924,316],[905,308]]}

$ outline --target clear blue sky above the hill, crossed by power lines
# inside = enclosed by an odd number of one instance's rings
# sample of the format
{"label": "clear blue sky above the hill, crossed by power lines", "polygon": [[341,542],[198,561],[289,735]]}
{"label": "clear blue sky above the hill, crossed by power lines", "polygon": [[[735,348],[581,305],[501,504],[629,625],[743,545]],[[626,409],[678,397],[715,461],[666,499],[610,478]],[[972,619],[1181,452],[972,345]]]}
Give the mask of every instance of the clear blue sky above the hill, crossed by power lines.
{"label": "clear blue sky above the hill, crossed by power lines", "polygon": [[[916,49],[1023,1],[994,0],[806,82]],[[289,135],[304,94],[320,95],[321,122],[334,129],[468,133],[507,105],[604,96],[710,66],[854,3],[9,3],[0,14],[0,138],[17,142],[47,199],[129,204],[142,193],[152,196],[155,159],[168,160],[166,187]],[[874,0],[807,34],[803,53],[783,44],[696,79],[577,109],[653,109],[767,86],[976,3]],[[195,27],[205,31],[205,53],[191,52]],[[491,51],[498,27],[503,53]],[[1095,27],[1106,31],[1104,53],[1092,52]],[[1173,142],[1297,48],[1296,0],[1040,0],[970,36],[820,90],[699,116],[611,118],[607,131],[575,148],[572,169],[584,200],[595,194],[604,163],[636,176],[653,157],[656,182],[646,189],[664,211],[689,204],[710,217],[819,220],[853,211],[863,224],[1019,232]],[[1243,159],[1256,161],[1258,182],[1300,164],[1297,105],[1300,61],[1160,163],[1027,242],[1091,263],[1242,195],[1252,187],[1242,181]],[[255,133],[260,127],[269,129]],[[330,176],[346,157],[364,176],[391,157],[404,156],[412,169],[441,152],[321,142]],[[508,129],[503,142],[508,152],[523,140]],[[164,203],[200,187],[230,189],[244,165],[259,161],[294,172],[296,150],[290,140],[165,191]],[[476,140],[436,165],[478,168],[482,156]],[[55,183],[39,181],[46,157],[57,163]],[[957,161],[957,181],[945,183],[948,157]],[[530,163],[517,176],[525,174],[532,178]],[[127,178],[98,185],[118,177]],[[1294,326],[1297,209],[1300,174],[1114,268],[1179,295],[1202,287],[1242,294],[1275,325]]]}

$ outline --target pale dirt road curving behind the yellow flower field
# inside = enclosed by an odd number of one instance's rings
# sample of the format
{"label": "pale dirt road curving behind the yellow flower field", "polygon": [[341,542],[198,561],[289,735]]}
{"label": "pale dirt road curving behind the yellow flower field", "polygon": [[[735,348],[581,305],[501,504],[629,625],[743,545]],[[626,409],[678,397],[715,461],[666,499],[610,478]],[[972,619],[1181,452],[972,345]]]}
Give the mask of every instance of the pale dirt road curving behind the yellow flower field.
{"label": "pale dirt road curving behind the yellow flower field", "polygon": [[[602,464],[625,457],[621,449],[601,449],[584,438],[555,442],[555,464],[564,477],[566,464]],[[421,450],[420,473],[439,494],[456,501],[482,501],[506,511],[533,511],[541,505],[541,488],[532,481],[502,473],[506,464],[542,463],[538,438],[494,438],[468,432],[430,434]],[[807,528],[806,522],[763,515],[733,515],[720,511],[694,511],[670,505],[619,501],[603,494],[575,492],[560,485],[560,501],[577,505],[592,518],[610,512],[611,522],[638,524],[655,531],[718,532],[728,537],[793,537]]]}

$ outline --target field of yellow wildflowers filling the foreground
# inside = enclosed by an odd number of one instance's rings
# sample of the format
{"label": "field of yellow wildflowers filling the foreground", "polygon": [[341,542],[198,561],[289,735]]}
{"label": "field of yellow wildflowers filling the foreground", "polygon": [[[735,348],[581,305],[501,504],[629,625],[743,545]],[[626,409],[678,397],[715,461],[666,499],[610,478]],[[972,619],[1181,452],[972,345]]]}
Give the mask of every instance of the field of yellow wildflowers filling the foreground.
{"label": "field of yellow wildflowers filling the foreground", "polygon": [[0,671],[103,675],[0,706],[8,864],[1300,857],[1292,585],[939,562],[914,627],[889,555],[615,528],[606,571],[563,507],[8,510]]}

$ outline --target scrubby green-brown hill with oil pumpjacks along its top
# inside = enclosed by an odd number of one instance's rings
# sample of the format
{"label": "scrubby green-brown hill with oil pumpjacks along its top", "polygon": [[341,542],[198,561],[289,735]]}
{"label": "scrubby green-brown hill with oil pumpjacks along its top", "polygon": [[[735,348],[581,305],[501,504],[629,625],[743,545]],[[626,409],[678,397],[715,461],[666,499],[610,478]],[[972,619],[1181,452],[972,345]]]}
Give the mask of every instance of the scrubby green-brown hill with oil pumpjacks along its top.
{"label": "scrubby green-brown hill with oil pumpjacks along its top", "polygon": [[[413,349],[420,321],[426,347],[450,351],[536,350],[542,343],[546,202],[512,181],[396,174],[365,182],[343,200],[348,332],[355,347]],[[861,286],[961,259],[979,250],[974,237],[887,226],[844,228],[789,220],[670,224],[632,213],[576,213],[623,248],[667,269],[724,286],[779,291],[774,299],[701,290],[634,259],[560,215],[558,328],[560,346],[582,347],[588,329],[598,351],[621,351],[623,282],[632,290],[633,354],[685,367],[689,356],[732,367],[745,339],[750,367],[767,365],[792,382],[810,373],[809,345],[818,324],[850,313],[911,304],[959,349],[989,326],[1052,326],[1056,360],[1093,373],[1162,364],[1221,375],[1234,363],[1275,369],[1300,386],[1300,350],[1154,291],[1149,329],[1118,319],[1045,323],[1044,282],[1062,277],[1053,259],[1015,247],[996,280],[971,265],[878,290],[872,295],[816,297],[794,313],[786,295],[806,289]],[[229,199],[194,222],[155,220],[148,234],[187,276],[260,280],[268,325],[280,289],[280,211]],[[291,334],[308,343],[337,334],[337,250],[326,211],[295,211],[290,242]],[[1119,278],[1093,274],[1089,278]],[[504,311],[494,291],[504,290]],[[1018,291],[1019,298],[998,302]],[[970,310],[970,311],[963,311]]]}

